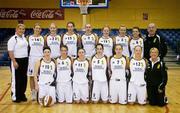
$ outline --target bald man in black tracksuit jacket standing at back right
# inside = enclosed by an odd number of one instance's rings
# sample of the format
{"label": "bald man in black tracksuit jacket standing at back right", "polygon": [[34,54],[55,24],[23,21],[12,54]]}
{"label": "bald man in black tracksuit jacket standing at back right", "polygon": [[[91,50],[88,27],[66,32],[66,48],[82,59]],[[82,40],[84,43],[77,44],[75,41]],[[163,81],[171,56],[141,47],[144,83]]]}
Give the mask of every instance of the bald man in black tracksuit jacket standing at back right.
{"label": "bald man in black tracksuit jacket standing at back right", "polygon": [[152,47],[159,50],[159,57],[163,60],[167,53],[167,45],[164,39],[156,34],[157,28],[154,23],[150,23],[147,28],[148,34],[144,40],[144,57],[149,59],[149,51]]}

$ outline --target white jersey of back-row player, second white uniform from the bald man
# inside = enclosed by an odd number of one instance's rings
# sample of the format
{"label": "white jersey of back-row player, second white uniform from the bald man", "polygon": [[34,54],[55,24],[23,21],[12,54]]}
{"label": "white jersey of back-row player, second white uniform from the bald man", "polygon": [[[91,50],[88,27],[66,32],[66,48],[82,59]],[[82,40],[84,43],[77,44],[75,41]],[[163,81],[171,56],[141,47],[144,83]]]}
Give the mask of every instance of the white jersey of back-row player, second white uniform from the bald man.
{"label": "white jersey of back-row player, second white uniform from the bald man", "polygon": [[127,36],[125,36],[125,37],[116,36],[115,40],[116,40],[116,44],[121,44],[122,45],[122,47],[123,47],[122,54],[124,56],[130,57],[130,53],[129,53],[129,37],[127,37]]}

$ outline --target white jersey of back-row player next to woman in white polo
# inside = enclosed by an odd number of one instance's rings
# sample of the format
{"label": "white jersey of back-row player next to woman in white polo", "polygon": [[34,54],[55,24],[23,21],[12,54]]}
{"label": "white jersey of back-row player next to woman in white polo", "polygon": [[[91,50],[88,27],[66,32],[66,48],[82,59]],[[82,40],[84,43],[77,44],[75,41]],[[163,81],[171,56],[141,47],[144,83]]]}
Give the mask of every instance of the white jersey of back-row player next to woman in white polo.
{"label": "white jersey of back-row player next to woman in white polo", "polygon": [[31,35],[28,39],[28,42],[30,46],[30,56],[42,57],[44,38],[42,36],[34,37],[33,35]]}

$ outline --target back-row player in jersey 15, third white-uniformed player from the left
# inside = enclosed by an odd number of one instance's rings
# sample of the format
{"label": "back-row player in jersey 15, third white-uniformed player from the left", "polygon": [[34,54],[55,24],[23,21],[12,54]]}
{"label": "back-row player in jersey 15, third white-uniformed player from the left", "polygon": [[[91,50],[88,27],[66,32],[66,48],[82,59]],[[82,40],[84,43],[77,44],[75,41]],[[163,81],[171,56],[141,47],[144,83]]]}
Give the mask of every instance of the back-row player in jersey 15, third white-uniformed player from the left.
{"label": "back-row player in jersey 15, third white-uniformed player from the left", "polygon": [[63,35],[63,44],[67,45],[69,51],[68,55],[72,58],[77,57],[77,48],[80,46],[80,38],[79,36],[74,33],[74,23],[68,22],[67,23],[67,32]]}

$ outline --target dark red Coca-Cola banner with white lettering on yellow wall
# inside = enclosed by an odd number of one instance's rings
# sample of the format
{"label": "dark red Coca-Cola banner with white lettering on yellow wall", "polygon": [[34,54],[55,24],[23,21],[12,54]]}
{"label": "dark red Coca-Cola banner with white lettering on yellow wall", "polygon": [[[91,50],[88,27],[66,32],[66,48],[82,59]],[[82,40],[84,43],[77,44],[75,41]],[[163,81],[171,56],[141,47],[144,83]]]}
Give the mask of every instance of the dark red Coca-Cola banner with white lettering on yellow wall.
{"label": "dark red Coca-Cola banner with white lettering on yellow wall", "polygon": [[61,8],[0,8],[0,19],[64,20],[64,10]]}

